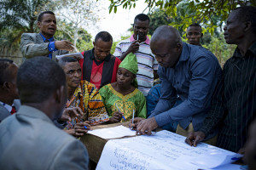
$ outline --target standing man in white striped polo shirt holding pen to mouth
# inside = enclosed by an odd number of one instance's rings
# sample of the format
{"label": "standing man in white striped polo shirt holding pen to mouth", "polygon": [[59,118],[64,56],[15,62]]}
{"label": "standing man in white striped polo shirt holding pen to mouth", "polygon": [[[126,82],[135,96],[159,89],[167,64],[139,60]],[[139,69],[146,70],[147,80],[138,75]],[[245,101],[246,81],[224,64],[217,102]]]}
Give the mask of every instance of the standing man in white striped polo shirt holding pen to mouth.
{"label": "standing man in white striped polo shirt holding pen to mouth", "polygon": [[127,54],[133,53],[137,56],[137,83],[138,89],[144,96],[153,87],[154,71],[156,73],[158,63],[150,49],[150,40],[147,36],[150,19],[146,14],[137,14],[134,19],[134,34],[119,42],[114,51],[114,56],[125,59]]}

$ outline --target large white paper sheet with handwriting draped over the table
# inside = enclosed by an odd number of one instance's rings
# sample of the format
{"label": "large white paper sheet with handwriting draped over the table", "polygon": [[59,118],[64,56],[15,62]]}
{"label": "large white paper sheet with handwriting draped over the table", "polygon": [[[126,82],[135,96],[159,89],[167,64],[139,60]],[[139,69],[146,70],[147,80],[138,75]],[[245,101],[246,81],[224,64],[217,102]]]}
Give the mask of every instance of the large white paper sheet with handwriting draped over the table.
{"label": "large white paper sheet with handwriting draped over the table", "polygon": [[[197,170],[200,167],[189,162],[197,156],[211,152],[224,156],[236,155],[210,144],[201,143],[191,147],[184,140],[185,137],[166,130],[150,136],[112,139],[105,144],[96,169]],[[176,162],[177,159],[181,161]]]}

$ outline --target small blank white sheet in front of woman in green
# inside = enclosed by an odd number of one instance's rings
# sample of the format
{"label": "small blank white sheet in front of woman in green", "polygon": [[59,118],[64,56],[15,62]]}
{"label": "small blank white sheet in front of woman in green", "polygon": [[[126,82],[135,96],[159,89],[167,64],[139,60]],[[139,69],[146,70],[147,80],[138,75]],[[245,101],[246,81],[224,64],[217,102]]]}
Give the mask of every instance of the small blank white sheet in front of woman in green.
{"label": "small blank white sheet in front of woman in green", "polygon": [[118,127],[96,129],[96,130],[88,131],[88,133],[101,137],[102,139],[116,139],[116,138],[122,138],[125,136],[136,135],[135,131],[132,131],[130,128],[124,127],[122,125]]}

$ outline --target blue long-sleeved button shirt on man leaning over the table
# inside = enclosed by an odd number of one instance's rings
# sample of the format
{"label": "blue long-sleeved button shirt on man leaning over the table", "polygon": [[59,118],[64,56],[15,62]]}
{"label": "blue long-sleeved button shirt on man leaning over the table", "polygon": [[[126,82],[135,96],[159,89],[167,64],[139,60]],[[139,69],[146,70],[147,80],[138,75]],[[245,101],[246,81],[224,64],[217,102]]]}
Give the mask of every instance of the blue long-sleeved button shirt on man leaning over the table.
{"label": "blue long-sleeved button shirt on man leaning over the table", "polygon": [[[213,91],[222,76],[218,59],[206,48],[183,42],[183,50],[173,68],[159,66],[161,97],[152,115],[158,126],[179,122],[184,129],[193,123],[202,126],[211,105]],[[173,107],[177,96],[182,103]]]}

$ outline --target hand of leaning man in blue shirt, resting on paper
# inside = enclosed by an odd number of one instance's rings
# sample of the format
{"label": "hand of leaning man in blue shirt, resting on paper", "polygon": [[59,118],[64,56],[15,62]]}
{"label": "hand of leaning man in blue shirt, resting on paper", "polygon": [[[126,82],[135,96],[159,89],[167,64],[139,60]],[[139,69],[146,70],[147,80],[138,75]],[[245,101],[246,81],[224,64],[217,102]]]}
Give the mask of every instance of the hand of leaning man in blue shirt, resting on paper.
{"label": "hand of leaning man in blue shirt, resting on paper", "polygon": [[158,127],[154,117],[144,119],[137,123],[137,134],[151,134],[151,131]]}

